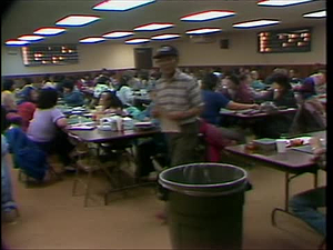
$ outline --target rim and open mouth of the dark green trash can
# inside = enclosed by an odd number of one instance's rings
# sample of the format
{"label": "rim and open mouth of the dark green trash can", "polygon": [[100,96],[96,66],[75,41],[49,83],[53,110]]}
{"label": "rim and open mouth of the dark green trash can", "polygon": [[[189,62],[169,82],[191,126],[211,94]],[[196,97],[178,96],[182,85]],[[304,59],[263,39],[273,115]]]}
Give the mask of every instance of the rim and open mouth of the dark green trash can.
{"label": "rim and open mouth of the dark green trash can", "polygon": [[245,191],[248,173],[232,164],[190,163],[162,171],[159,183],[189,196],[224,196]]}

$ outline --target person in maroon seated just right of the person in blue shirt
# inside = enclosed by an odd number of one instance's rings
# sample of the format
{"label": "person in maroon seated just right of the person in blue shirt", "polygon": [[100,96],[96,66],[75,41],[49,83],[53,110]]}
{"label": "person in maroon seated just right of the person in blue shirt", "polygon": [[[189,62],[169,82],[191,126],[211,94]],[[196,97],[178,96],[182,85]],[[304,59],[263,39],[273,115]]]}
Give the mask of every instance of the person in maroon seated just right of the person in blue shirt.
{"label": "person in maroon seated just right of the person in blue shirt", "polygon": [[225,74],[223,84],[225,88],[222,89],[222,93],[229,100],[240,103],[253,103],[253,94],[245,82],[246,76],[238,77],[235,74]]}

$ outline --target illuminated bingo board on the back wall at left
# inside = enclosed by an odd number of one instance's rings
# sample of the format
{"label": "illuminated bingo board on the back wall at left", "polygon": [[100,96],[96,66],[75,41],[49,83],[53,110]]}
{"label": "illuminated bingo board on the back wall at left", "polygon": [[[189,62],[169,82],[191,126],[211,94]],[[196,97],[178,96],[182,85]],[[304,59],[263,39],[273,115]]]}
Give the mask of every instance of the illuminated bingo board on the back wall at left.
{"label": "illuminated bingo board on the back wall at left", "polygon": [[63,66],[79,62],[75,44],[22,47],[24,66]]}

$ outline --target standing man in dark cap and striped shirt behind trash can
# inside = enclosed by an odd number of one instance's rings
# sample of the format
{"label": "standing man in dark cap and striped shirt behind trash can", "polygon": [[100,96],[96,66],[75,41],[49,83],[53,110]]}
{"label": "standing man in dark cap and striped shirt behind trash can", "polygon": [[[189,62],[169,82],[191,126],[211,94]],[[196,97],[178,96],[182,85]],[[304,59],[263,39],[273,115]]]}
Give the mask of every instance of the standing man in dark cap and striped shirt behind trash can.
{"label": "standing man in dark cap and striped shirt behind trash can", "polygon": [[157,81],[152,116],[167,133],[171,167],[195,162],[198,117],[203,109],[199,83],[176,68],[179,52],[174,47],[162,46],[153,58],[162,77]]}

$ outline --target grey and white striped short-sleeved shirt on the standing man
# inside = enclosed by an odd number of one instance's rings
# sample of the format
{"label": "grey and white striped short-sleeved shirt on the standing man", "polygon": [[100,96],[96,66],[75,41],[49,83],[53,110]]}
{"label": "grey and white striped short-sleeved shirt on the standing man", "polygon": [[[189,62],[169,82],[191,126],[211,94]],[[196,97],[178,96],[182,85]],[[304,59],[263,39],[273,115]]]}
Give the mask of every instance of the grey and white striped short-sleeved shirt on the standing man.
{"label": "grey and white striped short-sleeved shirt on the standing man", "polygon": [[[194,78],[176,69],[171,79],[160,78],[155,87],[155,104],[168,111],[188,111],[203,106],[199,83]],[[196,116],[180,121],[194,122]]]}

